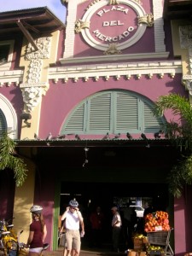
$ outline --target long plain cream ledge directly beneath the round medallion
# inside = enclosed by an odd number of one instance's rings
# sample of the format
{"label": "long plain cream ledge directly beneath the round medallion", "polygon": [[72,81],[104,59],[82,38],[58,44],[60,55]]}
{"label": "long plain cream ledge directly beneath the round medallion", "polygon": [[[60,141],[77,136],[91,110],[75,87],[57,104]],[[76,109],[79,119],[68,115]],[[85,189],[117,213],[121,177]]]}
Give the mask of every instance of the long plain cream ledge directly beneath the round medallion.
{"label": "long plain cream ledge directly beneath the round medallion", "polygon": [[78,58],[67,58],[60,59],[61,64],[78,64],[78,63],[90,63],[90,62],[102,62],[102,61],[127,61],[127,60],[146,60],[146,59],[166,59],[169,56],[169,52],[158,52],[158,53],[138,53],[130,55],[99,55],[90,57],[78,57]]}

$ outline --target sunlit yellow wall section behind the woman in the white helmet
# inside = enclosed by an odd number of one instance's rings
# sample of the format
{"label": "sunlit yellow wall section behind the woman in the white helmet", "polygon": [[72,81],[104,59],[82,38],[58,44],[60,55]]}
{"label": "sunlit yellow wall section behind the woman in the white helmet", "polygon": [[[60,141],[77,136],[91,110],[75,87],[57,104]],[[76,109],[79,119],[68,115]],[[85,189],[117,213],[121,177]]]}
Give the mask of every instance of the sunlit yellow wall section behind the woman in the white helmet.
{"label": "sunlit yellow wall section behind the woman in the white helmet", "polygon": [[32,161],[26,160],[27,177],[25,183],[15,189],[14,204],[14,228],[15,232],[23,233],[20,235],[20,241],[26,242],[29,235],[29,224],[32,222],[30,208],[33,205],[34,188],[35,188],[35,165]]}

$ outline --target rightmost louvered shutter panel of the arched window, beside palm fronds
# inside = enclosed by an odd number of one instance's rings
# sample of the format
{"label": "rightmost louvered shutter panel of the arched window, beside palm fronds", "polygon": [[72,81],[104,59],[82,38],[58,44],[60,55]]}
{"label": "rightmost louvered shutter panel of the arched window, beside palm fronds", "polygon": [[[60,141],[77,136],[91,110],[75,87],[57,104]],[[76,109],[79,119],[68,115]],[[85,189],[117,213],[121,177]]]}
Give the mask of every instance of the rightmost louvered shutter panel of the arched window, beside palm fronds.
{"label": "rightmost louvered shutter panel of the arched window, beside palm fronds", "polygon": [[146,102],[143,104],[144,107],[144,132],[155,132],[160,131],[160,127],[163,125],[162,119],[154,116],[153,108]]}

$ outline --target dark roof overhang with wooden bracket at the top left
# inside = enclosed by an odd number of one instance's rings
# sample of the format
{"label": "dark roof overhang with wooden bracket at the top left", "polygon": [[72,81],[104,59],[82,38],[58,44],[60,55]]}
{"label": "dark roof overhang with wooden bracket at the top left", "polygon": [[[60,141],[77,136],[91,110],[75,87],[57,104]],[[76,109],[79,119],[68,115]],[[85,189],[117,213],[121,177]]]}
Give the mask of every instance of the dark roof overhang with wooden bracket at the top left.
{"label": "dark roof overhang with wooden bracket at the top left", "polygon": [[34,39],[61,30],[65,25],[47,7],[0,12],[0,38],[22,32],[34,49]]}

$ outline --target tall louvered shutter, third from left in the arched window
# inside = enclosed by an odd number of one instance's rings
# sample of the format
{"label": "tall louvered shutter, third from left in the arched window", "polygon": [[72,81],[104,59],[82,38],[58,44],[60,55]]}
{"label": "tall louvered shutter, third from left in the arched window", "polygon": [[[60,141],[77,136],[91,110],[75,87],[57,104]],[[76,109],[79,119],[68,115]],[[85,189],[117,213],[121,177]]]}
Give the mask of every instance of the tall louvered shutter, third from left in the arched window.
{"label": "tall louvered shutter, third from left in the arched window", "polygon": [[138,99],[127,93],[116,95],[116,131],[127,132],[138,130]]}

